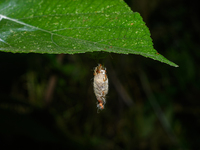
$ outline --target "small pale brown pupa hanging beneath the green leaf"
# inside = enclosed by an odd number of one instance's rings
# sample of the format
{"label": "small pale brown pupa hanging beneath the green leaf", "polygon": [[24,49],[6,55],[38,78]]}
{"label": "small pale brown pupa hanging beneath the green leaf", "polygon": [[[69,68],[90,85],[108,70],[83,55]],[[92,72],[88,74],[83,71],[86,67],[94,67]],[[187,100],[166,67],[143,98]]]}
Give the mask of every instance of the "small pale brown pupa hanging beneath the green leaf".
{"label": "small pale brown pupa hanging beneath the green leaf", "polygon": [[106,104],[106,94],[108,93],[108,77],[106,75],[106,68],[99,64],[94,69],[94,94],[97,98],[98,110],[103,110]]}

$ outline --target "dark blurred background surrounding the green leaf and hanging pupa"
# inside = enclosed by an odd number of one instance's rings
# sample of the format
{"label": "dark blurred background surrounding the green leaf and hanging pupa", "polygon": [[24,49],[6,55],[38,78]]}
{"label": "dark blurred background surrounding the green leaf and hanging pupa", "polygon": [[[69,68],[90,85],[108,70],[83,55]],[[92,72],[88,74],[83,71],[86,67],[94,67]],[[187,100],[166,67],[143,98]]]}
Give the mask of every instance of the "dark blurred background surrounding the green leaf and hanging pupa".
{"label": "dark blurred background surrounding the green leaf and hanging pupa", "polygon": [[127,0],[178,68],[108,54],[97,113],[89,54],[0,53],[0,145],[15,149],[200,149],[199,1]]}

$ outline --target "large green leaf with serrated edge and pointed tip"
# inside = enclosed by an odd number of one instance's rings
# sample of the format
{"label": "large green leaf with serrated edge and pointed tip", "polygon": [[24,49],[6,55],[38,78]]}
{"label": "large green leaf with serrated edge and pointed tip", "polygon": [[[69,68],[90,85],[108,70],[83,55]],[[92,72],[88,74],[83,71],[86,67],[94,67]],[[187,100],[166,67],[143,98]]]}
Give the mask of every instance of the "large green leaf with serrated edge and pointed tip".
{"label": "large green leaf with serrated edge and pointed tip", "polygon": [[1,0],[0,51],[139,54],[177,67],[123,0]]}

